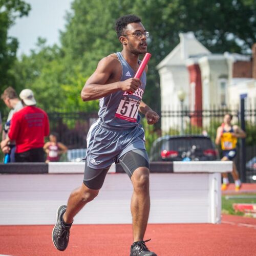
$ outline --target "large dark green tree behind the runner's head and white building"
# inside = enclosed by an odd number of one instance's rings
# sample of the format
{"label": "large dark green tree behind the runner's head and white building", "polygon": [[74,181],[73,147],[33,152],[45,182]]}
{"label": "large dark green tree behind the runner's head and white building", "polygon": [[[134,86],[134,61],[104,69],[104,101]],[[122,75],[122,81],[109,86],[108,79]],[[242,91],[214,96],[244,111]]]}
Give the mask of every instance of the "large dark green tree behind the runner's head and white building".
{"label": "large dark green tree behind the runner's head and white building", "polygon": [[[150,31],[153,54],[147,75],[145,101],[160,110],[156,65],[179,43],[179,33],[193,31],[210,51],[245,53],[256,41],[254,0],[75,0],[61,34],[63,51],[81,61],[90,75],[100,58],[121,50],[114,31],[119,16],[134,13]],[[254,3],[254,4],[253,4]]]}

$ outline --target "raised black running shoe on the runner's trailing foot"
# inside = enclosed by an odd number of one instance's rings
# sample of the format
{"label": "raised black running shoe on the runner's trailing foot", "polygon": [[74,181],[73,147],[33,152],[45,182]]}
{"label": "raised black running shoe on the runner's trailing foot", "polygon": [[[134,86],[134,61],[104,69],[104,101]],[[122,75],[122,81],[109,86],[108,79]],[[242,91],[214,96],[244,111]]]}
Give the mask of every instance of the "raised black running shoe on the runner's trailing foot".
{"label": "raised black running shoe on the runner's trailing foot", "polygon": [[68,247],[69,244],[69,236],[70,236],[70,226],[66,226],[62,222],[62,215],[66,211],[67,206],[61,205],[57,209],[57,223],[52,230],[52,241],[54,246],[63,251]]}

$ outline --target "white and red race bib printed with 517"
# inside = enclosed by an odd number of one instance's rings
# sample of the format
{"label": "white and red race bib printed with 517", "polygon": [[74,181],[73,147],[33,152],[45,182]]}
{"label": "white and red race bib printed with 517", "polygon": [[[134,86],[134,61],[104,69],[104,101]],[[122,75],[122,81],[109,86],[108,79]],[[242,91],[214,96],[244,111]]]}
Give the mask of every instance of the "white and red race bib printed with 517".
{"label": "white and red race bib printed with 517", "polygon": [[119,103],[115,117],[120,119],[136,122],[139,112],[140,100],[130,97],[123,97]]}

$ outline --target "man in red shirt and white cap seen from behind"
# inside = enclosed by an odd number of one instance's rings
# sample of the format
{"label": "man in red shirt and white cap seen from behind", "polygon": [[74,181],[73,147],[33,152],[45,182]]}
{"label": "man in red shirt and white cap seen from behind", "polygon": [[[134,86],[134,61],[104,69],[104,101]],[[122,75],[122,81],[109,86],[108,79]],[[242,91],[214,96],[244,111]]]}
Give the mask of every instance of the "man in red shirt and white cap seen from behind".
{"label": "man in red shirt and white cap seen from behind", "polygon": [[9,138],[1,142],[1,148],[9,140],[16,141],[16,162],[45,162],[44,137],[49,135],[49,119],[45,111],[37,108],[30,89],[19,94],[24,108],[15,113],[11,120]]}

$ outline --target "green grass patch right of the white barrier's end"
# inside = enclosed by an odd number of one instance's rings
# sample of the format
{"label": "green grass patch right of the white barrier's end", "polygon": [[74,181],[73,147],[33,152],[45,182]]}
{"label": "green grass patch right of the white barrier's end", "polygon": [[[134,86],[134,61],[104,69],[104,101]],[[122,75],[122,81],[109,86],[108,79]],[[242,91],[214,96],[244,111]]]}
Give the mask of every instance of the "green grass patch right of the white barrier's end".
{"label": "green grass patch right of the white barrier's end", "polygon": [[249,196],[251,198],[228,198],[229,196],[222,196],[222,213],[223,214],[243,216],[244,215],[243,212],[235,212],[233,210],[232,205],[234,203],[256,204],[256,194],[242,194],[239,196],[245,196],[245,197]]}

